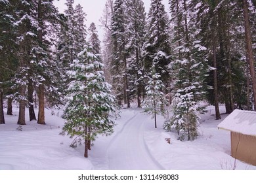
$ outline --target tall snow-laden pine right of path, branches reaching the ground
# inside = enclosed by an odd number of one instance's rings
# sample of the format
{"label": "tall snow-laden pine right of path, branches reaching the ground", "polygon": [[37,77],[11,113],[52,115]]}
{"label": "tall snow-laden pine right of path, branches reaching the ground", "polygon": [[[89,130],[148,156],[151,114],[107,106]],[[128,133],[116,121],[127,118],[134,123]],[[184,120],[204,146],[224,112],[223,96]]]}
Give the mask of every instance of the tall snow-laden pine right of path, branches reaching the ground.
{"label": "tall snow-laden pine right of path, branches reaching the ground", "polygon": [[[206,61],[203,57],[206,48],[200,45],[200,31],[194,21],[195,11],[190,1],[170,1],[173,24],[179,27],[175,31],[175,61],[172,69],[175,72],[175,93],[173,97],[173,117],[165,122],[165,129],[176,129],[179,139],[194,140],[198,136],[198,113],[203,107],[200,103],[205,94]],[[179,7],[179,8],[177,8]],[[190,7],[190,8],[189,8]],[[177,12],[177,9],[182,12]]]}

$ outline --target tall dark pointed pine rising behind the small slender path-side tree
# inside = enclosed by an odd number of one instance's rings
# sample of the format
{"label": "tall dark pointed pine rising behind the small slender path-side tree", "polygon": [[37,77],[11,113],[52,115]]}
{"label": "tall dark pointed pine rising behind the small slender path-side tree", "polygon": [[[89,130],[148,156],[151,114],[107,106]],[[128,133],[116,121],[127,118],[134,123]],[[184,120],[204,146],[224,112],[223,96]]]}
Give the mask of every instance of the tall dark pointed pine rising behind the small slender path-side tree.
{"label": "tall dark pointed pine rising behind the small slender path-side tree", "polygon": [[160,74],[165,88],[170,84],[168,65],[171,63],[171,44],[169,42],[169,18],[162,0],[152,0],[148,13],[146,41],[142,49],[144,67],[149,73],[152,65]]}

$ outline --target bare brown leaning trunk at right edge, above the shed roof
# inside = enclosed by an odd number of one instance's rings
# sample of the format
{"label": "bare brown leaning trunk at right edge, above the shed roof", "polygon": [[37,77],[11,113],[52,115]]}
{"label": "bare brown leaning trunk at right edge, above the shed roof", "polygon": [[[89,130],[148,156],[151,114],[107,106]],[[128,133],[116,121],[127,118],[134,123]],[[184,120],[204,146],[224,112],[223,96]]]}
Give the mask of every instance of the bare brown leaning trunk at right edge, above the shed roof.
{"label": "bare brown leaning trunk at right edge, above the shed roof", "polygon": [[249,24],[249,10],[247,0],[243,0],[244,8],[244,26],[245,26],[245,44],[247,50],[247,58],[249,62],[249,71],[251,75],[251,82],[253,86],[253,99],[254,99],[254,110],[256,110],[256,78],[255,78],[255,66],[253,60],[253,46],[251,42],[251,27]]}

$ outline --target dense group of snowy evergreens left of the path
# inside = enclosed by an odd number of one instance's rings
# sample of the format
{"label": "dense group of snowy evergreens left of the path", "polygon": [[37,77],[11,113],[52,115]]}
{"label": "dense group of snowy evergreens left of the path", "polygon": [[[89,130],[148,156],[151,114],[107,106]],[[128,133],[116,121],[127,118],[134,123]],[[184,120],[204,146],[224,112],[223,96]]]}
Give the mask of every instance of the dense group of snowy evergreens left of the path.
{"label": "dense group of snowy evergreens left of the path", "polygon": [[46,105],[65,105],[61,135],[74,137],[72,147],[84,142],[88,157],[91,141],[112,133],[115,97],[105,82],[95,24],[87,41],[83,8],[74,0],[65,4],[60,14],[53,0],[0,1],[0,124],[5,98],[7,114],[12,101],[19,105],[18,125],[26,125],[26,108],[30,121],[44,125]]}

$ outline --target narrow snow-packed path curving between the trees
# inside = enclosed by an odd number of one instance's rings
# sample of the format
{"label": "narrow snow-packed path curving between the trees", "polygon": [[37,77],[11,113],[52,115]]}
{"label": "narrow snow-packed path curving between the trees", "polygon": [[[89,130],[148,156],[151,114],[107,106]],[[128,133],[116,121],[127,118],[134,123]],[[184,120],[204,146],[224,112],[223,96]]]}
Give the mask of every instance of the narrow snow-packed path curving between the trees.
{"label": "narrow snow-packed path curving between the trees", "polygon": [[135,114],[114,137],[107,150],[109,169],[163,169],[144,142],[143,124],[147,118]]}

